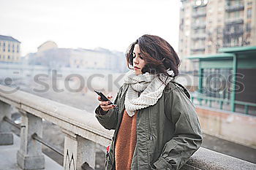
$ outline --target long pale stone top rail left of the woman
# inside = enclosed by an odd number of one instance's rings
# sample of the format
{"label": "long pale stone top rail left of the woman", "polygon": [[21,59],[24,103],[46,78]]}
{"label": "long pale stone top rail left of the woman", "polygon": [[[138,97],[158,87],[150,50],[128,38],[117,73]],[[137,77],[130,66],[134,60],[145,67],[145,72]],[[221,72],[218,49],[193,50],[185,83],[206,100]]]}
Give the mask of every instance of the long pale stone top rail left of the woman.
{"label": "long pale stone top rail left of the woman", "polygon": [[5,93],[14,89],[4,85],[0,85],[0,88],[0,101],[16,107],[20,111],[41,117],[97,144],[107,146],[111,142],[113,131],[103,128],[95,115],[86,110],[69,107],[22,90]]}

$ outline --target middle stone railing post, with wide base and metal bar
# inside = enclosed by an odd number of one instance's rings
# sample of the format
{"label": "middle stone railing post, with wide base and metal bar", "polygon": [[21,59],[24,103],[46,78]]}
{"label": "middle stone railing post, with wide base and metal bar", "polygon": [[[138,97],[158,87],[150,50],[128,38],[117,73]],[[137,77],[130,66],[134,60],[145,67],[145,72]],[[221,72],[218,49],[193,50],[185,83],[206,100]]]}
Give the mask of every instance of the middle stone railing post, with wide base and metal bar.
{"label": "middle stone railing post, with wide base and metal bar", "polygon": [[42,118],[21,111],[20,150],[17,152],[17,162],[21,169],[44,169],[45,157],[42,155],[42,145],[32,139],[37,133],[42,137]]}

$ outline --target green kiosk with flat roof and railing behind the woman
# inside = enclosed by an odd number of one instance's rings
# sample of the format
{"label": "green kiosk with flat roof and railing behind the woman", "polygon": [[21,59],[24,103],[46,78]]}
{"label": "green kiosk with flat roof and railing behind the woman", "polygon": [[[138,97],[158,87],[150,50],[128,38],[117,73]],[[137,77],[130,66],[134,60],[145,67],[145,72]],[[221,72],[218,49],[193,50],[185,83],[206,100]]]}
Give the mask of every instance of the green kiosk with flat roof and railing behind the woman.
{"label": "green kiosk with flat roof and railing behind the woman", "polygon": [[226,47],[217,54],[187,58],[199,65],[193,102],[256,115],[256,46]]}

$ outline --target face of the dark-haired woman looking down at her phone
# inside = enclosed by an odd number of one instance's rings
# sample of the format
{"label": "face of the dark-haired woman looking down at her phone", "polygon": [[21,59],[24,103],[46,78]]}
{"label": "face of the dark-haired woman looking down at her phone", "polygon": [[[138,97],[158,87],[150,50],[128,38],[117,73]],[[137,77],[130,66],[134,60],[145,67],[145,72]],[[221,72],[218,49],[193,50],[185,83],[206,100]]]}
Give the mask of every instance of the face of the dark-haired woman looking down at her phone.
{"label": "face of the dark-haired woman looking down at her phone", "polygon": [[142,74],[141,69],[145,66],[146,62],[143,60],[143,57],[140,54],[140,46],[138,44],[135,45],[133,49],[133,68],[135,69],[135,74]]}

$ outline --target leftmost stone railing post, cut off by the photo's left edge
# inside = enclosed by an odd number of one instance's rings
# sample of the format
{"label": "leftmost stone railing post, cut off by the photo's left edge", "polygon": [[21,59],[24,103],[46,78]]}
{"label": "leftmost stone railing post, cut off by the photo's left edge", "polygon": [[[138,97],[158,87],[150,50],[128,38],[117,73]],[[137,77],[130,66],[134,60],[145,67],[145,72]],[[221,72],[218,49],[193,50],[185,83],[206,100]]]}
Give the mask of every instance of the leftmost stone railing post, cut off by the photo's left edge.
{"label": "leftmost stone railing post, cut off by the photo's left edge", "polygon": [[0,101],[0,145],[13,144],[13,134],[10,125],[4,117],[11,118],[11,105]]}

